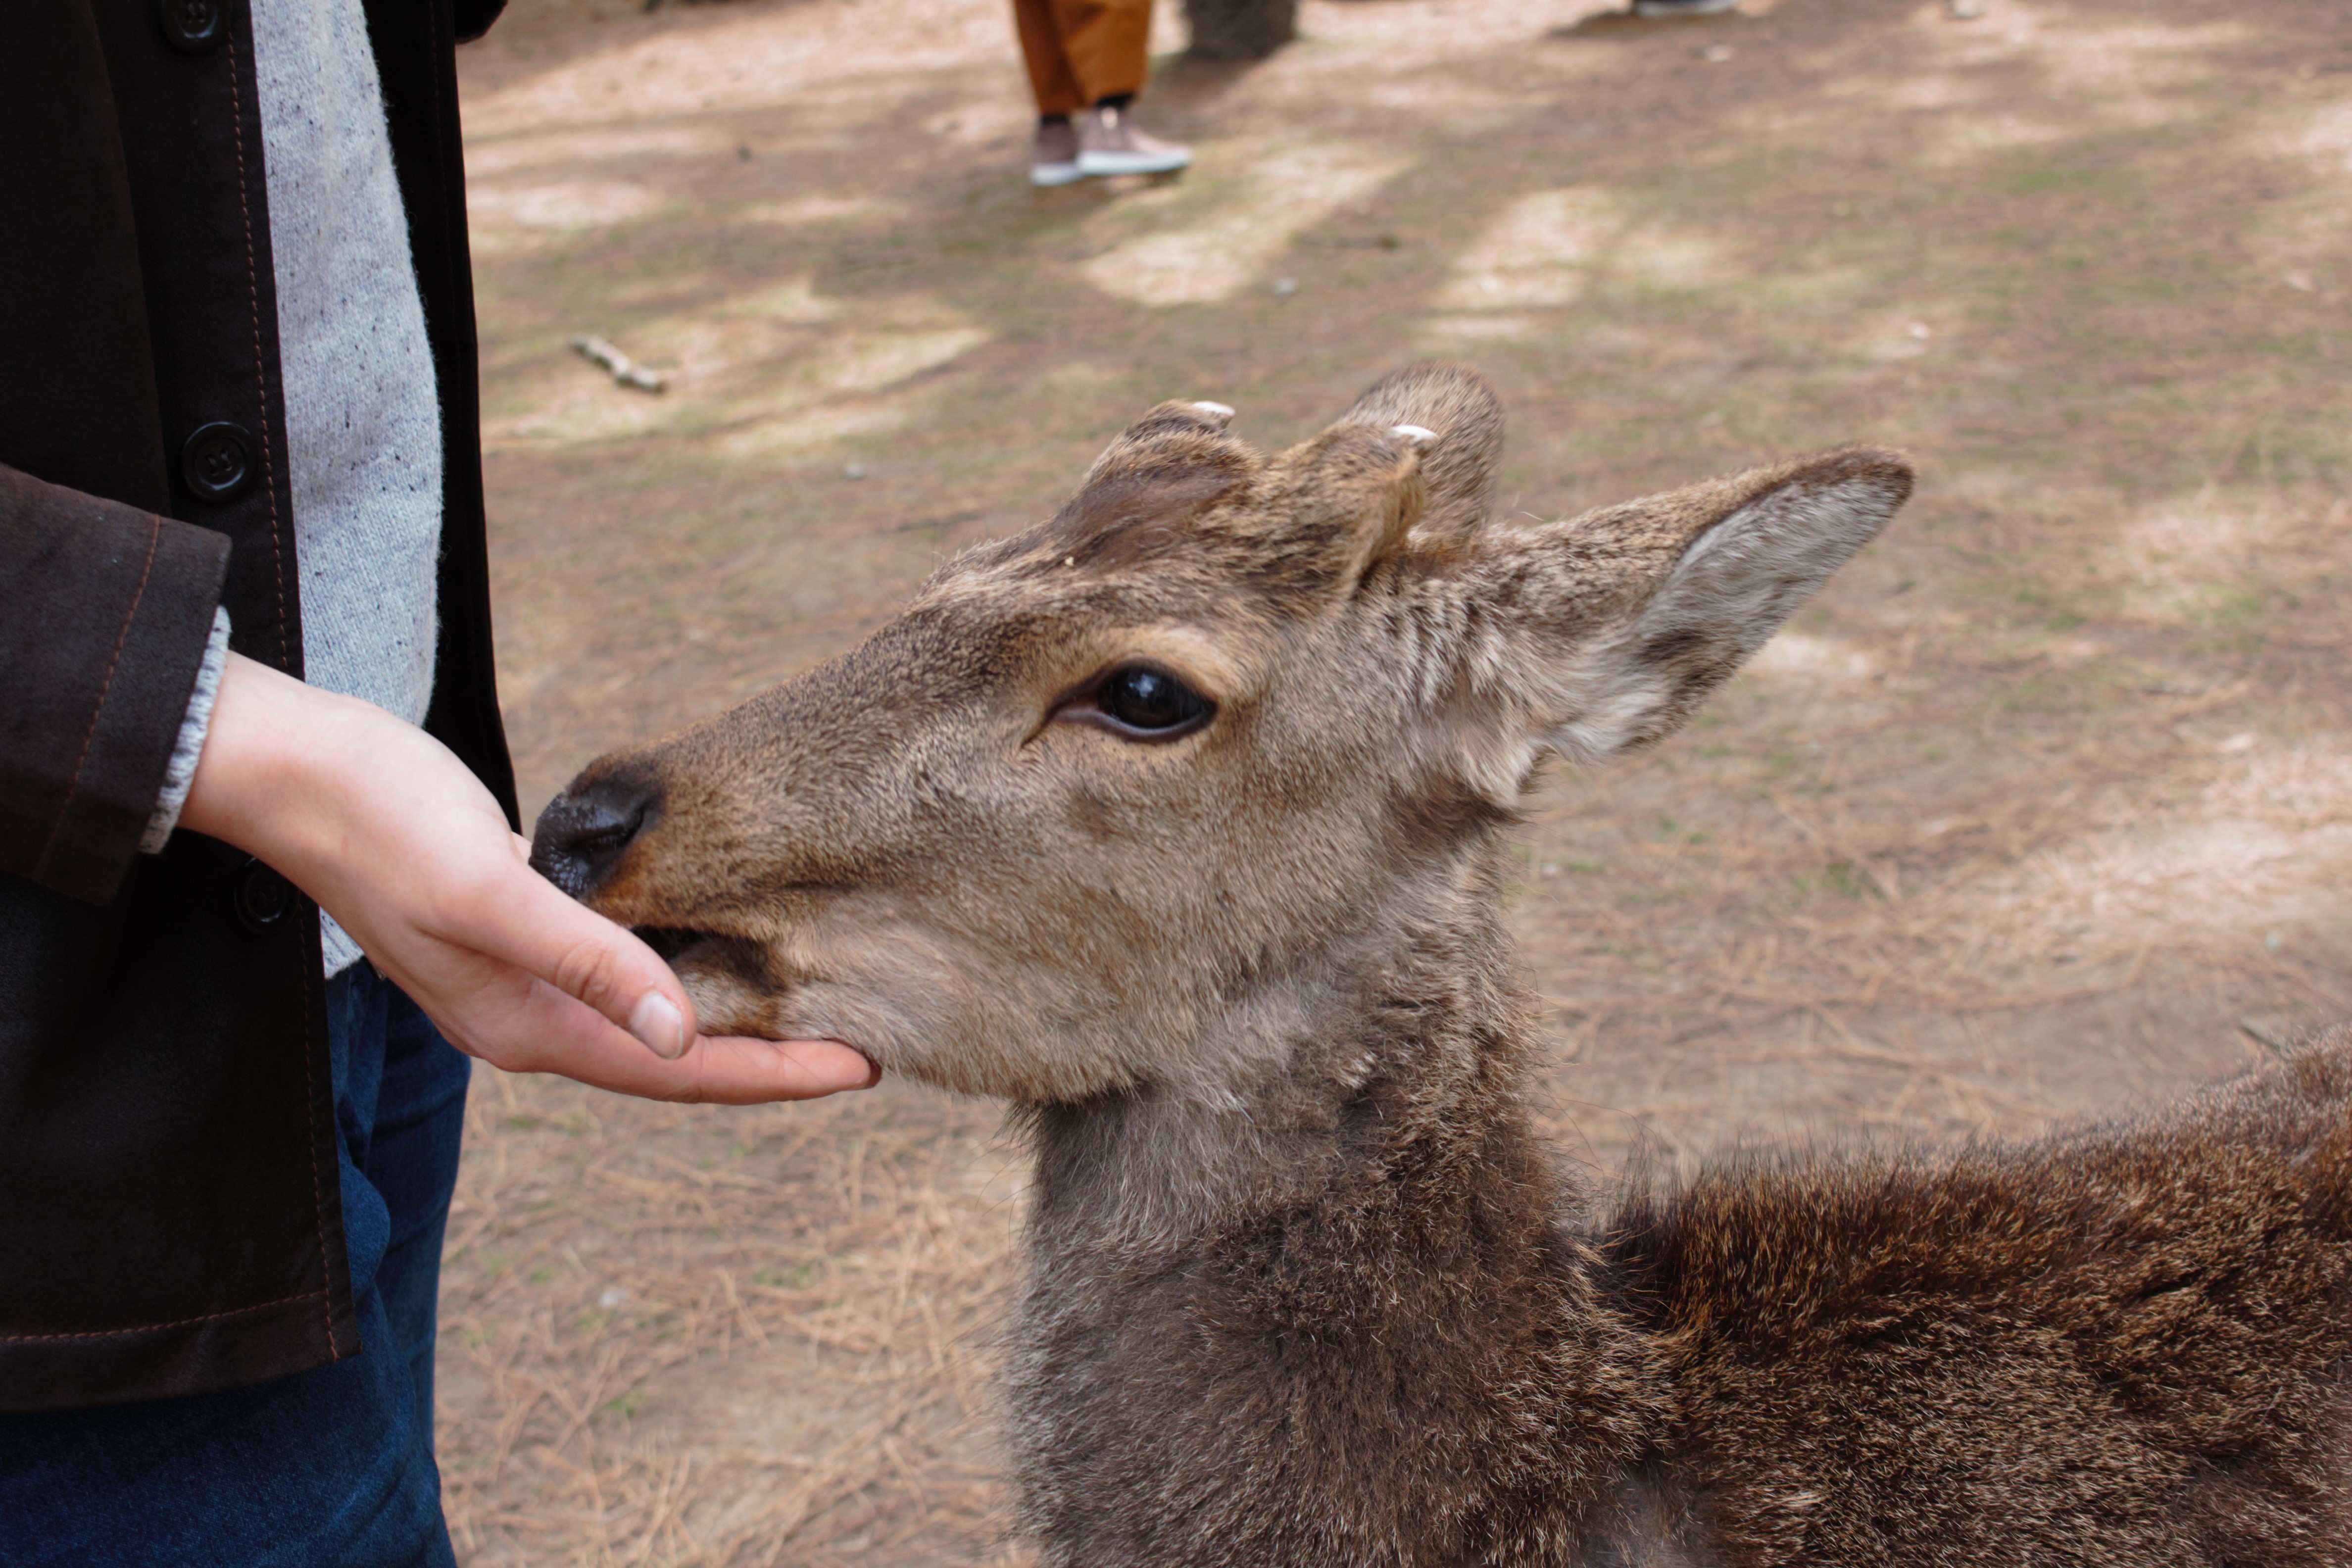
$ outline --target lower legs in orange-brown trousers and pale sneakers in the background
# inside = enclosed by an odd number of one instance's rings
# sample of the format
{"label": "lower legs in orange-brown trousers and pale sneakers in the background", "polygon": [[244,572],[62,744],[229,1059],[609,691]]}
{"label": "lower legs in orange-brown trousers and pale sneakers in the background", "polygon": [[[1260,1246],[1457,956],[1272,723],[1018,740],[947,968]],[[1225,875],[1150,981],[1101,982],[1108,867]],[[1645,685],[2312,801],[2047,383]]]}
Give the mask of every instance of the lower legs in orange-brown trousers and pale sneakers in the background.
{"label": "lower legs in orange-brown trousers and pale sneakers in the background", "polygon": [[1192,162],[1190,148],[1134,122],[1150,75],[1152,0],[1014,0],[1014,21],[1037,96],[1035,183],[1167,174]]}

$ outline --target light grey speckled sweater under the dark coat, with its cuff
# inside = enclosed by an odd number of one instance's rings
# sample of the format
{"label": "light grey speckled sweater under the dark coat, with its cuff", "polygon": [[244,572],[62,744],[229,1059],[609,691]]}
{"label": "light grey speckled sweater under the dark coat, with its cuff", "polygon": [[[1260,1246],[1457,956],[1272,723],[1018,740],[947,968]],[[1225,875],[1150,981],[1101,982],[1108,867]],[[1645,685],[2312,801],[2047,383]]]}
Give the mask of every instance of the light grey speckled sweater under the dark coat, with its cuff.
{"label": "light grey speckled sweater under the dark coat, with its cuff", "polygon": [[[433,353],[360,0],[252,0],[278,277],[303,679],[416,724],[433,696],[442,444]],[[188,799],[228,654],[212,649],[148,823]],[[360,947],[320,917],[327,973]]]}

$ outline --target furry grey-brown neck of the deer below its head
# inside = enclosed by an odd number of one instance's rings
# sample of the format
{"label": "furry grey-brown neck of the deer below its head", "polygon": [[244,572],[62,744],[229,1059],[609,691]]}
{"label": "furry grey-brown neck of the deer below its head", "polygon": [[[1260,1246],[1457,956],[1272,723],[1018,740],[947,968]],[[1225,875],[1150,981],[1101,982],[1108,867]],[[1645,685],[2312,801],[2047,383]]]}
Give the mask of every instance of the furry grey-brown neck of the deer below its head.
{"label": "furry grey-brown neck of the deer below its head", "polygon": [[1298,1027],[1223,1103],[1035,1117],[1014,1436],[1047,1563],[1519,1561],[1496,1528],[1564,1540],[1637,1450],[1639,1352],[1526,1128],[1534,1030],[1468,893],[1256,1009]]}

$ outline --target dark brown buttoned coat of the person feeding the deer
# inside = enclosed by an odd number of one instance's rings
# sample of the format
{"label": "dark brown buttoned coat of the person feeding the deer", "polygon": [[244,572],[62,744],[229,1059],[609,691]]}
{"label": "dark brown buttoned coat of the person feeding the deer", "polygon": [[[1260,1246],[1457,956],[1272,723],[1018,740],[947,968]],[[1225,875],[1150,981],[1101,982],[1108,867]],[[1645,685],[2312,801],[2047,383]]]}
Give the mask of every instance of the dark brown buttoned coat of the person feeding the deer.
{"label": "dark brown buttoned coat of the person feeding the deer", "polygon": [[[445,421],[426,726],[513,813],[452,56],[492,14],[367,5]],[[301,672],[247,2],[12,7],[0,148],[0,1410],[35,1410],[301,1371],[358,1328],[315,910],[193,832],[134,853],[214,607]],[[183,463],[214,423],[249,458],[226,498]]]}

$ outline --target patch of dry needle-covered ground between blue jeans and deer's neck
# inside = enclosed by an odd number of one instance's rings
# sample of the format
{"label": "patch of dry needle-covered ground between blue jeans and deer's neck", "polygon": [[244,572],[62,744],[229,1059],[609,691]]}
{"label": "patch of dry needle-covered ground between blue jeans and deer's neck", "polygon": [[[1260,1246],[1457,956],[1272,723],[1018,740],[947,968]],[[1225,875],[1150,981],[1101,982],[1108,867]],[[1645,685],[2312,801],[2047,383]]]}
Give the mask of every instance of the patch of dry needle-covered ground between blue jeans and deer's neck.
{"label": "patch of dry needle-covered ground between blue jeans and deer's neck", "polygon": [[997,1561],[1018,1187],[974,1178],[990,1117],[901,1128],[901,1093],[482,1084],[442,1293],[445,1403],[487,1415],[445,1436],[466,1561]]}

